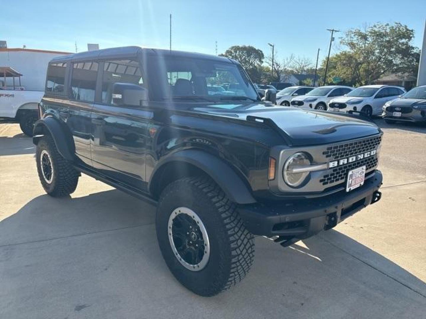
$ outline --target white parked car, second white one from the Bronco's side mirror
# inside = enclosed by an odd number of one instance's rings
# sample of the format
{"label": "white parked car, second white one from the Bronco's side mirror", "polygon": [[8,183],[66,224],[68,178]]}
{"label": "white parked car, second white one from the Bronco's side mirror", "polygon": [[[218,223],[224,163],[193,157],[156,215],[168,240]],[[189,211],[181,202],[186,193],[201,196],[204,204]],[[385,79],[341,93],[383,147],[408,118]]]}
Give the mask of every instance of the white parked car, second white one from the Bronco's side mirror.
{"label": "white parked car, second white one from the Bronco's side mirror", "polygon": [[331,99],[341,97],[354,88],[342,85],[325,85],[314,88],[312,91],[302,96],[296,96],[291,100],[291,106],[297,108],[312,108],[315,110],[326,110]]}

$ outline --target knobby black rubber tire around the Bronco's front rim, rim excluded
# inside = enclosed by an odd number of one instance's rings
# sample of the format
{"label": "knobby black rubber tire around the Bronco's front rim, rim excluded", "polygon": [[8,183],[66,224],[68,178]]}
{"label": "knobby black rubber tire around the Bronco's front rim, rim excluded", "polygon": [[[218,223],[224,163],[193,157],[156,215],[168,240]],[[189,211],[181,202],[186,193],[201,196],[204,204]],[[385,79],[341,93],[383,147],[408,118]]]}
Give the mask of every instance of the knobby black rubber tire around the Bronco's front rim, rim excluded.
{"label": "knobby black rubber tire around the Bronco's front rim, rim excluded", "polygon": [[[181,265],[169,241],[168,220],[179,207],[196,212],[209,237],[209,260],[200,271]],[[170,271],[182,285],[200,296],[214,296],[236,285],[253,264],[253,235],[246,230],[236,205],[209,177],[184,177],[167,185],[158,202],[156,230]]]}

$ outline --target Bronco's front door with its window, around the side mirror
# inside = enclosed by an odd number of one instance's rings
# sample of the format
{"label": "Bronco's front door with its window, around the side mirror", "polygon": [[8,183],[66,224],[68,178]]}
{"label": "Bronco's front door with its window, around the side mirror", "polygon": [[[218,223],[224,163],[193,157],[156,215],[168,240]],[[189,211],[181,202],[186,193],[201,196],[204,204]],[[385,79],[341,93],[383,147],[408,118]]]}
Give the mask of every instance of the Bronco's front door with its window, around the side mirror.
{"label": "Bronco's front door with its window, around the side mirror", "polygon": [[118,106],[112,100],[114,83],[144,86],[141,68],[131,59],[103,61],[100,68],[99,93],[91,117],[93,166],[112,179],[145,190],[147,121],[152,112]]}

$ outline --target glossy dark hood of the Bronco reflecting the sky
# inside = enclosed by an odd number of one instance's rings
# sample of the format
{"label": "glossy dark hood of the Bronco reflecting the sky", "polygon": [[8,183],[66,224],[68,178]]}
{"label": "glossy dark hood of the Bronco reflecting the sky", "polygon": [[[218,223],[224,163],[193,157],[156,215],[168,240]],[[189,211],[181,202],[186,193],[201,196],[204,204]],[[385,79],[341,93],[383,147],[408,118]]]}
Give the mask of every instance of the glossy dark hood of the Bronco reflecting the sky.
{"label": "glossy dark hood of the Bronco reflecting the sky", "polygon": [[292,146],[334,143],[381,132],[373,122],[361,117],[300,108],[267,107],[263,103],[216,104],[212,108],[193,108],[193,111],[250,122],[253,122],[253,117],[271,119],[278,126],[276,130],[281,130],[279,133],[284,133]]}

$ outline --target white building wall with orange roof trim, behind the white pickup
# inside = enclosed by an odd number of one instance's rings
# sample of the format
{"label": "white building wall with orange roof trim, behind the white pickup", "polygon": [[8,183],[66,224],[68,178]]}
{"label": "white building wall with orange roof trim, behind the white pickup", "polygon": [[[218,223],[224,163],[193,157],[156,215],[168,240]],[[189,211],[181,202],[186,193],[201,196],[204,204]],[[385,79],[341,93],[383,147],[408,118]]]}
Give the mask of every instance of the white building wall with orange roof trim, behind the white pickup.
{"label": "white building wall with orange roof trim, behind the white pickup", "polygon": [[[6,49],[7,50],[7,49]],[[23,49],[25,50],[25,49]],[[65,55],[64,53],[35,52],[35,51],[0,51],[0,66],[10,66],[23,74],[21,85],[28,91],[44,91],[46,82],[47,64],[54,57]],[[3,81],[2,74],[0,80]],[[6,80],[12,85],[12,79]],[[15,78],[15,85],[19,85]]]}

